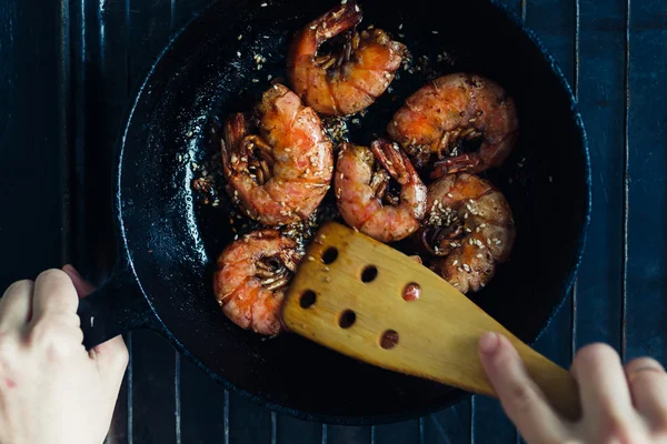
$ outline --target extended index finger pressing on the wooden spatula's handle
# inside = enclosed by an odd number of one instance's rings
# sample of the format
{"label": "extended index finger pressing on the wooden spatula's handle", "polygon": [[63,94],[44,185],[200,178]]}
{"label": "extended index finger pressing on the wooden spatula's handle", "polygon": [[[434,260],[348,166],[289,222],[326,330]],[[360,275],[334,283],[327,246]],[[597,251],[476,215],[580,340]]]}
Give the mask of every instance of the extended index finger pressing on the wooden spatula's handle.
{"label": "extended index finger pressing on the wooden spatula's handle", "polygon": [[502,408],[527,442],[565,441],[565,424],[548,405],[507,337],[496,333],[481,336],[479,359]]}

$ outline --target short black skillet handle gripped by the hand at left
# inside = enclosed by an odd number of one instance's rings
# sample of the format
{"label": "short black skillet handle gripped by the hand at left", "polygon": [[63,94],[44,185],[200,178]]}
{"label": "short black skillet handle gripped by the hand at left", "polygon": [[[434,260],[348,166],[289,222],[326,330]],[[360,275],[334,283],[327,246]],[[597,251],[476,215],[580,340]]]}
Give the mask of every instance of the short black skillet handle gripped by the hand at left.
{"label": "short black skillet handle gripped by the hand at left", "polygon": [[127,268],[117,268],[100,289],[80,299],[77,313],[81,319],[86,350],[129,330],[158,324],[139,283]]}

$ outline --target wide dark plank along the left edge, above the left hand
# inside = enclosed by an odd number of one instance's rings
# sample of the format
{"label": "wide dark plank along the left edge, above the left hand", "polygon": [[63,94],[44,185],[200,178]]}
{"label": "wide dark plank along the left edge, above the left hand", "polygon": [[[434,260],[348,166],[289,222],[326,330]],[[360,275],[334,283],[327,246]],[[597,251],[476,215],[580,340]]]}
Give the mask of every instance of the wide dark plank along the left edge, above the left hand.
{"label": "wide dark plank along the left edge, above the left hand", "polygon": [[[2,291],[62,264],[63,132],[59,2],[8,0],[0,9]],[[39,63],[36,62],[39,60]]]}

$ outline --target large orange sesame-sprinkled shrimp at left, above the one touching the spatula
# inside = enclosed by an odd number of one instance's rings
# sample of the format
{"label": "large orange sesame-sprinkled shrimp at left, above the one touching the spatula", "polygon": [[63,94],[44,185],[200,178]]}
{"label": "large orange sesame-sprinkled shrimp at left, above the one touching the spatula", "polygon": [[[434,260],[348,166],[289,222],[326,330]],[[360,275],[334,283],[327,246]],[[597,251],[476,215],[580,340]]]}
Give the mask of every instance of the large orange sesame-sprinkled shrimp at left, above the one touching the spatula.
{"label": "large orange sesame-sprinkled shrimp at left, above the one touching the spatula", "polygon": [[225,128],[227,192],[252,218],[281,225],[308,218],[331,181],[334,154],[317,113],[292,91],[272,85],[257,105],[255,125],[242,113]]}

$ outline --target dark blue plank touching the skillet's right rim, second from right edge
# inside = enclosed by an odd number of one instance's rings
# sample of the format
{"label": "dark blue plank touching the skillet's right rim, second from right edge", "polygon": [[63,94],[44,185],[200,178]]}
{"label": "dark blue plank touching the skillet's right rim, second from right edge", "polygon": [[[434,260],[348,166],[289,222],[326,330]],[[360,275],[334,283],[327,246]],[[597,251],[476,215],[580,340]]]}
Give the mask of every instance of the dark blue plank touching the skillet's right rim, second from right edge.
{"label": "dark blue plank touching the skillet's right rim, second from right edge", "polygon": [[625,0],[581,0],[579,103],[593,169],[593,219],[579,272],[577,347],[620,349]]}

